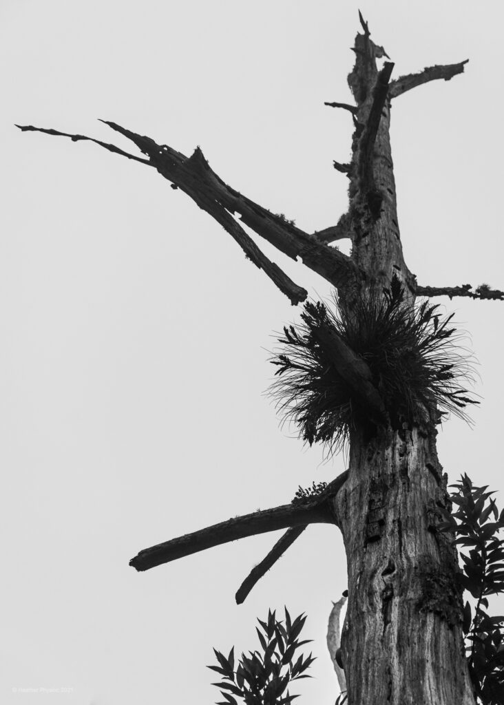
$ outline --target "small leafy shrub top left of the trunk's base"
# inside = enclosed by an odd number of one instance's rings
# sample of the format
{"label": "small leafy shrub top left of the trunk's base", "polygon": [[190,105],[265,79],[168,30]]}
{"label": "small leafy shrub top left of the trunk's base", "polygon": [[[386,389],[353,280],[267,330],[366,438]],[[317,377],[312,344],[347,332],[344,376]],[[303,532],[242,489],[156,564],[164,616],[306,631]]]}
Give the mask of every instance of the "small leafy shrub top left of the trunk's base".
{"label": "small leafy shrub top left of the trunk's base", "polygon": [[315,660],[312,654],[307,658],[301,654],[294,661],[297,649],[312,641],[297,640],[305,620],[305,615],[301,614],[291,621],[285,608],[284,626],[276,619],[275,612],[269,610],[267,622],[257,620],[261,625],[261,630],[256,629],[262,653],[250,651],[250,656],[242,654],[236,669],[234,646],[228,658],[214,649],[219,666],[207,668],[223,676],[220,683],[212,683],[221,688],[221,695],[225,698],[218,705],[238,705],[234,696],[241,698],[245,705],[288,705],[299,697],[289,694],[288,685],[298,678],[311,678],[305,670]]}

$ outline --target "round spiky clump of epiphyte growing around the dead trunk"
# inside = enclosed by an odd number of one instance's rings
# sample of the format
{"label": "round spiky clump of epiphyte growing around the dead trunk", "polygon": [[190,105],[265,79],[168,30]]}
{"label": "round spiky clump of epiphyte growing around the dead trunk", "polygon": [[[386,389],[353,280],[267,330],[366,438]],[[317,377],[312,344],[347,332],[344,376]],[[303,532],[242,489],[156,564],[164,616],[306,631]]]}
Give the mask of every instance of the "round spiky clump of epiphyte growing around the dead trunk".
{"label": "round spiky clump of epiphyte growing around the dead trunk", "polygon": [[310,446],[320,442],[334,452],[352,429],[376,428],[367,404],[321,343],[324,329],[366,362],[392,427],[438,421],[450,412],[469,420],[465,407],[478,402],[463,385],[473,381],[473,358],[448,326],[453,314],[443,318],[427,300],[415,305],[397,277],[383,296],[362,295],[351,309],[336,298],[333,311],[308,302],[301,318],[278,338],[283,347],[271,359],[278,367],[271,393]]}

